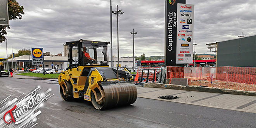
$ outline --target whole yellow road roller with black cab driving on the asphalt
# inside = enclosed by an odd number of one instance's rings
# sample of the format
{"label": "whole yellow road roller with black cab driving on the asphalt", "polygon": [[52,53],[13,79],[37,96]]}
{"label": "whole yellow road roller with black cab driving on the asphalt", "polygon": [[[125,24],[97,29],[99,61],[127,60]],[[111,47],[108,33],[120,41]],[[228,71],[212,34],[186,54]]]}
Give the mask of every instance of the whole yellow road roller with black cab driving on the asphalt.
{"label": "whole yellow road roller with black cab driving on the asphalt", "polygon": [[66,42],[69,46],[69,67],[58,78],[62,100],[83,97],[98,110],[126,106],[136,101],[137,88],[130,72],[111,68],[107,63],[108,44],[110,42],[83,39]]}

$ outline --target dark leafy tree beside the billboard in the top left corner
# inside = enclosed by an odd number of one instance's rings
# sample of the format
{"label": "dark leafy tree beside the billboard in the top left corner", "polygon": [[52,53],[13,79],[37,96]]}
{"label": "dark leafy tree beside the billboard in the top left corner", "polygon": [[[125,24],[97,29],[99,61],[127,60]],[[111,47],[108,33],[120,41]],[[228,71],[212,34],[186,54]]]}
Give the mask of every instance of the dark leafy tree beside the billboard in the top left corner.
{"label": "dark leafy tree beside the billboard in the top left corner", "polygon": [[[22,15],[25,14],[23,11],[24,7],[19,5],[16,0],[8,0],[8,14],[9,20],[22,19]],[[7,37],[6,28],[10,29],[10,26],[0,25],[0,43],[5,42]]]}

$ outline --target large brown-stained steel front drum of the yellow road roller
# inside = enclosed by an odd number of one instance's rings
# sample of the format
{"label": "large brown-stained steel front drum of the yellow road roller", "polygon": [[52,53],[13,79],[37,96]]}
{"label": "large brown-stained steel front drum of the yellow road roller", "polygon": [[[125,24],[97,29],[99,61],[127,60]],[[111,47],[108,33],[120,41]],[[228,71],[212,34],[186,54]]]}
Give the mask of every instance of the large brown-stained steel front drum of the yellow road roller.
{"label": "large brown-stained steel front drum of the yellow road roller", "polygon": [[[91,92],[91,102],[93,106],[100,110],[109,107],[127,106],[133,104],[137,99],[137,88],[133,81],[123,82],[102,82],[104,97],[99,93],[96,94],[97,99],[102,98],[97,102],[93,91]],[[102,89],[101,88],[101,89]]]}

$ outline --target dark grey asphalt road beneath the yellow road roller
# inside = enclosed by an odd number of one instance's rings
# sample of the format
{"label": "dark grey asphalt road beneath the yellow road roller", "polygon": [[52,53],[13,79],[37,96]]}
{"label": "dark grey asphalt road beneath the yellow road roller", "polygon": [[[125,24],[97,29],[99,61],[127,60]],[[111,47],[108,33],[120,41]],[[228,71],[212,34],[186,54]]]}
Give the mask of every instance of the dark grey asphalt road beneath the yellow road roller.
{"label": "dark grey asphalt road beneath the yellow road roller", "polygon": [[38,85],[54,95],[43,103],[34,128],[256,128],[255,113],[144,98],[99,111],[83,99],[63,101],[57,82],[48,80],[0,77],[0,101],[26,95]]}

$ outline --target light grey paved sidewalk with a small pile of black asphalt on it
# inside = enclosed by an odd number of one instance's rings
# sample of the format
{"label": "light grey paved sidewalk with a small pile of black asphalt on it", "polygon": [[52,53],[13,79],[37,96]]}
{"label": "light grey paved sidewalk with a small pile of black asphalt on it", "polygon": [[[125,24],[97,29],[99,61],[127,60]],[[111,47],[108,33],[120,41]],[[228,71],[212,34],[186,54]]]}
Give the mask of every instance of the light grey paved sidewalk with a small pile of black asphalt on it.
{"label": "light grey paved sidewalk with a small pile of black asphalt on it", "polygon": [[[141,98],[256,113],[256,97],[254,96],[147,88],[142,86],[137,86],[137,90],[138,97]],[[157,98],[166,95],[173,95],[179,98],[173,100]]]}

